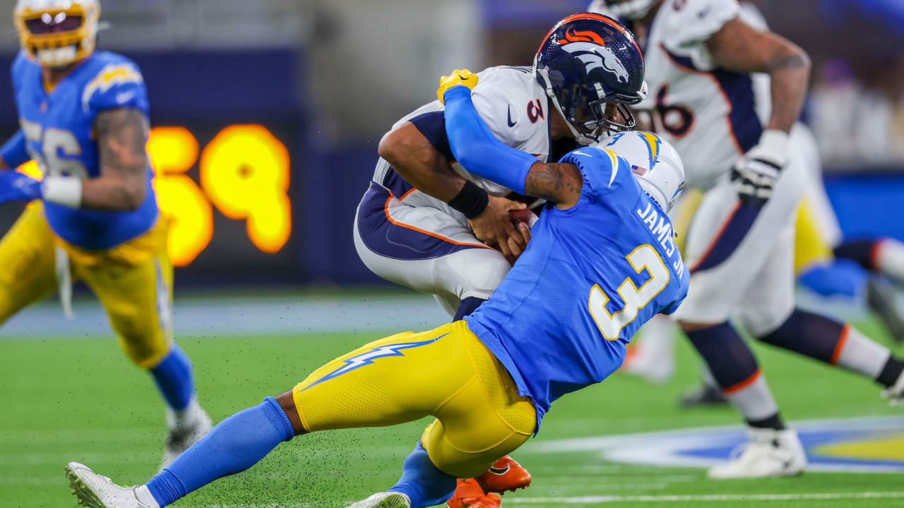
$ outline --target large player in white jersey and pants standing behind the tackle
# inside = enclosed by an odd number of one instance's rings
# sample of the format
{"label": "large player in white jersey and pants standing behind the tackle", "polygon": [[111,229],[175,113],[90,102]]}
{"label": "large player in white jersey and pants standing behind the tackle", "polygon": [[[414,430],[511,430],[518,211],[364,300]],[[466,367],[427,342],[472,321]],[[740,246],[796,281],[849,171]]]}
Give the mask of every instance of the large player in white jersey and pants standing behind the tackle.
{"label": "large player in white jersey and pants standing behind the tackle", "polygon": [[789,132],[805,98],[807,55],[746,22],[737,0],[597,0],[590,10],[636,33],[649,84],[638,108],[682,156],[687,185],[704,192],[684,250],[691,287],[675,318],[750,437],[710,475],[798,474],[804,449],[730,317],[760,341],[877,381],[891,398],[904,391],[904,363],[887,348],[794,305],[794,217],[806,175]]}

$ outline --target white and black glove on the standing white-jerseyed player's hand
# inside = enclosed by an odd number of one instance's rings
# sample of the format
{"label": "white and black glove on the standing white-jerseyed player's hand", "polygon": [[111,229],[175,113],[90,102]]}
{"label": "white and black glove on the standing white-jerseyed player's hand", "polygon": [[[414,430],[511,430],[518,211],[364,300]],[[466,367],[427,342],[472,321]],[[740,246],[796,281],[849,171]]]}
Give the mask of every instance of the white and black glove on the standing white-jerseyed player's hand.
{"label": "white and black glove on the standing white-jerseyed player's hand", "polygon": [[739,182],[742,205],[760,207],[772,196],[778,174],[787,162],[787,144],[785,131],[766,129],[758,145],[738,159],[731,170],[731,181]]}

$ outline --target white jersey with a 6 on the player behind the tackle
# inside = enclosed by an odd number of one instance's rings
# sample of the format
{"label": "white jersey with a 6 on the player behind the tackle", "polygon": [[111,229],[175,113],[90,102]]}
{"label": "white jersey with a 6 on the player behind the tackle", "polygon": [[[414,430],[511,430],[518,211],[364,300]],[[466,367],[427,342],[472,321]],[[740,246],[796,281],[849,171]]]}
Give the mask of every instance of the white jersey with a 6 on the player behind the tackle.
{"label": "white jersey with a 6 on the player behind the tackle", "polygon": [[[599,4],[591,8],[607,14]],[[636,108],[653,113],[654,130],[681,155],[690,187],[711,188],[758,143],[767,121],[768,76],[718,69],[706,47],[739,16],[765,28],[755,8],[736,0],[665,0],[643,45],[649,94]]]}

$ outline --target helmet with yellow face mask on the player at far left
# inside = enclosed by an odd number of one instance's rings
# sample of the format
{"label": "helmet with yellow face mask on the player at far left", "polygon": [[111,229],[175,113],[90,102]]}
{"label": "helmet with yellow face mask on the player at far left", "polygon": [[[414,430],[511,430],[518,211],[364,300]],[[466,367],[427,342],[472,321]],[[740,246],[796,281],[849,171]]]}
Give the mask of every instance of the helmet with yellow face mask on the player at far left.
{"label": "helmet with yellow face mask on the player at far left", "polygon": [[13,22],[22,49],[44,67],[88,57],[97,42],[98,0],[18,0]]}

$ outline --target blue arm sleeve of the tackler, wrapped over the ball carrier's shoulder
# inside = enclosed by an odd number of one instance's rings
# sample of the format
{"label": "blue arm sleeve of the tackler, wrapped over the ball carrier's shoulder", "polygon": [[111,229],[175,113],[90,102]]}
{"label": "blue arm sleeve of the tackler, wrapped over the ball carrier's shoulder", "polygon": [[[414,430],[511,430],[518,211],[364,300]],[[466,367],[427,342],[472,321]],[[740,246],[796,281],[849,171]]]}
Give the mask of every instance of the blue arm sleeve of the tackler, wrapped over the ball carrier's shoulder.
{"label": "blue arm sleeve of the tackler, wrapped over the ball carrier's shoulder", "polygon": [[464,86],[448,89],[446,133],[452,154],[467,171],[524,193],[524,179],[537,158],[505,146],[490,132],[471,102],[471,90]]}

